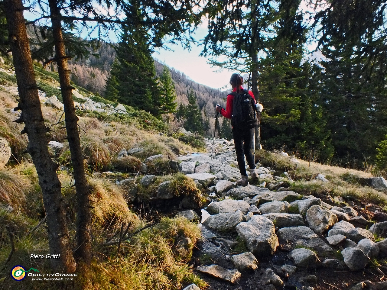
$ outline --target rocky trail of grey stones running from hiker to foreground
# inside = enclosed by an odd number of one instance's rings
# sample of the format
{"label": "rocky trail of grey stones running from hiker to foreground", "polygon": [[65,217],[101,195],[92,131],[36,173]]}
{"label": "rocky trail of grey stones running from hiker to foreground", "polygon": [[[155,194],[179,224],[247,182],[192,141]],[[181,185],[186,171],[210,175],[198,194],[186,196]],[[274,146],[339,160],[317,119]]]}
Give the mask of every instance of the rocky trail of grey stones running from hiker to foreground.
{"label": "rocky trail of grey stones running from hiker to foreground", "polygon": [[[211,152],[212,140],[206,143]],[[211,198],[196,210],[200,217],[178,213],[200,220],[204,240],[193,266],[209,289],[387,289],[387,267],[377,262],[387,256],[386,213],[376,209],[370,221],[370,208],[354,202],[287,191],[289,174],[260,164],[263,183],[236,187],[233,141],[217,139],[214,152],[211,172],[210,154],[178,157],[178,170]],[[315,179],[327,181],[322,174]]]}

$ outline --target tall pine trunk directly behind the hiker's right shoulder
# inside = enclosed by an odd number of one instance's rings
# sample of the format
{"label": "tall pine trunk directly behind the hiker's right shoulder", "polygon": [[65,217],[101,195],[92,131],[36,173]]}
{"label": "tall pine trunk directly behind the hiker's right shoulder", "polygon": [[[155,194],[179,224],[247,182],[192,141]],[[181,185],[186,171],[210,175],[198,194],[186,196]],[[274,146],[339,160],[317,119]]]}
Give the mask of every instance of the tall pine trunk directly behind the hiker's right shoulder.
{"label": "tall pine trunk directly behind the hiker's right shoulder", "polygon": [[[257,30],[257,0],[251,1],[251,27],[252,27],[252,51],[250,52],[251,58],[251,91],[254,94],[255,99],[258,102],[258,41],[259,31]],[[260,149],[260,119],[258,126],[255,127],[255,150]]]}

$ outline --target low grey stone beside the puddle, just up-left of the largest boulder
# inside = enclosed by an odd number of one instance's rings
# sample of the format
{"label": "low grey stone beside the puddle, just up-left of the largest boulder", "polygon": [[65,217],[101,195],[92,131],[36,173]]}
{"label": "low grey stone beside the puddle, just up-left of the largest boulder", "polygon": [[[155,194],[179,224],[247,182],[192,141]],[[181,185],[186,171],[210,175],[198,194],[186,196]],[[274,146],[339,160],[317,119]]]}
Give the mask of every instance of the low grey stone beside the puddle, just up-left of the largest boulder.
{"label": "low grey stone beside the puddle, just up-left of the largest boulder", "polygon": [[211,215],[203,222],[203,225],[218,231],[234,231],[236,225],[243,222],[245,216],[240,210],[232,213],[218,213]]}

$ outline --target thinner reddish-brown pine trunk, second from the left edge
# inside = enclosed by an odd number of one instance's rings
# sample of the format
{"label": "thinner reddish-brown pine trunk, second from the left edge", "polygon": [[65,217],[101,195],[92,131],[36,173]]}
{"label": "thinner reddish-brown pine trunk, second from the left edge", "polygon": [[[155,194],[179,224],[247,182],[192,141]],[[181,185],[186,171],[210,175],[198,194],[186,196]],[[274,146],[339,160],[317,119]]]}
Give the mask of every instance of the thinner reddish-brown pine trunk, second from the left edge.
{"label": "thinner reddish-brown pine trunk, second from the left edge", "polygon": [[74,180],[77,190],[77,255],[86,264],[91,262],[91,214],[90,214],[90,187],[87,183],[82,150],[80,148],[78,117],[75,114],[72,89],[70,85],[70,70],[67,66],[67,56],[63,43],[60,9],[57,0],[49,0],[51,23],[55,43],[55,58],[58,65],[60,88],[65,107],[65,122],[67,140],[71,152],[71,162],[74,169]]}

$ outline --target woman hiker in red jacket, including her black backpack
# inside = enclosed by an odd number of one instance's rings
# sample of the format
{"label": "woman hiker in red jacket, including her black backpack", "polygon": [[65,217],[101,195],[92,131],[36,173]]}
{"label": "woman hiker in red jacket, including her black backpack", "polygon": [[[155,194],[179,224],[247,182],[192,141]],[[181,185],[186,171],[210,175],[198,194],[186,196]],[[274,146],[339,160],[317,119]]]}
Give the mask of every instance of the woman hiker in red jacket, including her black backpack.
{"label": "woman hiker in red jacket, including her black backpack", "polygon": [[236,159],[238,160],[239,171],[242,176],[241,179],[236,181],[236,184],[247,186],[248,176],[246,172],[245,158],[243,155],[246,155],[252,179],[256,179],[258,177],[257,169],[255,168],[255,160],[251,152],[254,138],[254,127],[258,124],[256,117],[257,112],[255,108],[256,101],[251,90],[243,90],[243,77],[241,77],[240,74],[233,73],[230,78],[230,84],[233,91],[227,96],[226,109],[216,105],[216,111],[221,113],[223,117],[231,119]]}

